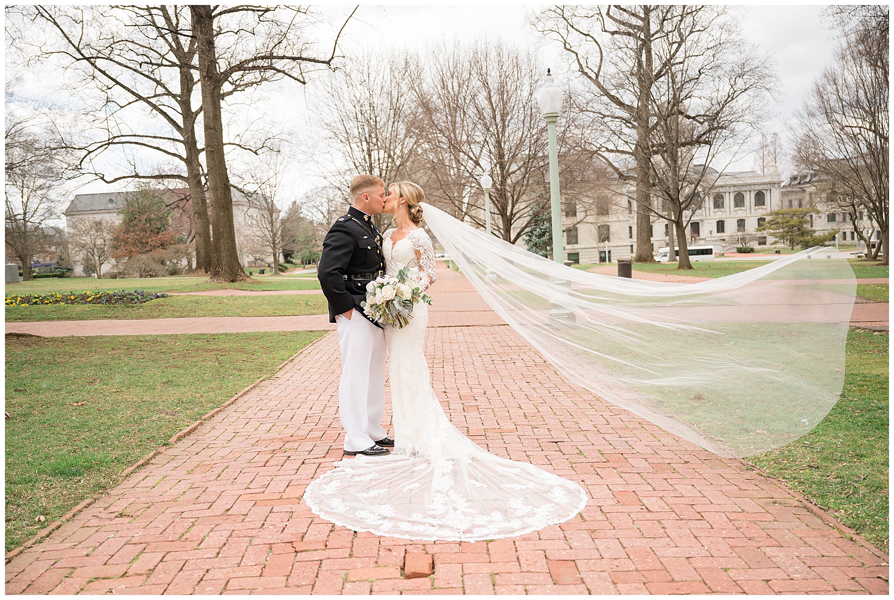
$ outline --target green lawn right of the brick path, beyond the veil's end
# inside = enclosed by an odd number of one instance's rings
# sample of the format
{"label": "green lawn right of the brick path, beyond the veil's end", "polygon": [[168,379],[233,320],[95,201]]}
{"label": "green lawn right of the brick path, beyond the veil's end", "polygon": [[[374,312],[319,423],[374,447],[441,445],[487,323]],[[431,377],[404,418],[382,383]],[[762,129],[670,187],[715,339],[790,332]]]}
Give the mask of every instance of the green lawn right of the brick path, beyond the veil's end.
{"label": "green lawn right of the brick path, beyond the veil's end", "polygon": [[809,434],[749,461],[888,551],[888,333],[851,330],[841,399]]}

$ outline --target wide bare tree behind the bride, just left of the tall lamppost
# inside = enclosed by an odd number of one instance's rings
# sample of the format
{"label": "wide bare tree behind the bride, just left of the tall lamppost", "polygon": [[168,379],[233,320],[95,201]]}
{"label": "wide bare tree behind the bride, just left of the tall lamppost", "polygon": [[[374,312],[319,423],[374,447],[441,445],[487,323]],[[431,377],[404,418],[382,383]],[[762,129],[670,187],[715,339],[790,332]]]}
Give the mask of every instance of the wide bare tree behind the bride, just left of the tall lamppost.
{"label": "wide bare tree behind the bride, just left of the tall lamppost", "polygon": [[[426,195],[484,228],[478,180],[486,172],[493,178],[493,232],[519,241],[549,211],[546,125],[536,105],[546,69],[533,52],[499,41],[438,46],[426,63],[411,81]],[[560,148],[568,150],[561,165],[581,172],[589,155],[567,143],[567,123],[560,131]]]}

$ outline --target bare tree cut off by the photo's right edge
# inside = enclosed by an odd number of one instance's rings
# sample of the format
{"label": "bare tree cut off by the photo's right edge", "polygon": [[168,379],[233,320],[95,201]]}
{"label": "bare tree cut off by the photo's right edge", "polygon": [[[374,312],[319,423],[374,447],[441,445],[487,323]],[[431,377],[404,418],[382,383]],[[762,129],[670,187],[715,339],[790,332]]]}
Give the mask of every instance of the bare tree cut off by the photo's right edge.
{"label": "bare tree cut off by the photo's right edge", "polygon": [[[843,34],[796,125],[795,162],[864,207],[880,230],[872,258],[889,258],[889,7],[833,7]],[[867,245],[867,252],[870,250]]]}

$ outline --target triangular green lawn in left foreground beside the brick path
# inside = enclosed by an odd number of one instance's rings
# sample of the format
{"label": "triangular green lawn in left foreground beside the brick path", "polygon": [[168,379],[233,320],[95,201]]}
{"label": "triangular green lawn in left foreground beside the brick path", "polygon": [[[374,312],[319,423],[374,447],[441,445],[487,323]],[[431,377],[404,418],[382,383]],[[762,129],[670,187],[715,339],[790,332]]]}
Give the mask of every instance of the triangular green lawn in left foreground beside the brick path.
{"label": "triangular green lawn in left foreground beside the brick path", "polygon": [[7,335],[6,550],[323,333]]}

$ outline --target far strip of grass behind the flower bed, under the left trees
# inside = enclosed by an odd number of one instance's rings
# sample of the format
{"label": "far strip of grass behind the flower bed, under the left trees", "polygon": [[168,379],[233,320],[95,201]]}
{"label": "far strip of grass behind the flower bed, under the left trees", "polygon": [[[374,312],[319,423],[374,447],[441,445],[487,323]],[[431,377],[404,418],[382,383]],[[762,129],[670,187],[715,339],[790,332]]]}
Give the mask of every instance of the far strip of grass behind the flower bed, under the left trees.
{"label": "far strip of grass behind the flower bed, under the left trees", "polygon": [[209,283],[207,277],[152,277],[147,279],[95,279],[69,277],[7,283],[6,295],[92,290],[145,290],[147,292],[201,292],[204,290],[319,290],[316,277],[264,277],[242,283]]}

